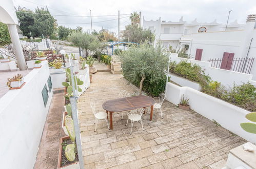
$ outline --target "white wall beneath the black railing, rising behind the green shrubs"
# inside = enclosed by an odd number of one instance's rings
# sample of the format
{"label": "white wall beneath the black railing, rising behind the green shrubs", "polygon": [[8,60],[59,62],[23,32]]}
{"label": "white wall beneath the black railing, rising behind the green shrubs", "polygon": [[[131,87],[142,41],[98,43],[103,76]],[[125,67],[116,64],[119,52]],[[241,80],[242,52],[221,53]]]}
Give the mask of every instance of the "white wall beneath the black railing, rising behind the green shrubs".
{"label": "white wall beneath the black railing, rising behind the green shrubs", "polygon": [[181,58],[171,54],[171,61],[176,61],[176,63],[179,63],[181,60],[187,60],[188,62],[192,62],[194,64],[201,66],[202,69],[205,69],[206,75],[209,74],[209,76],[211,77],[211,80],[219,81],[222,83],[222,85],[226,86],[227,88],[232,87],[234,82],[236,85],[242,85],[243,82],[247,83],[248,81],[252,85],[256,86],[256,81],[252,80],[252,76],[253,76],[252,74],[212,68],[210,65],[210,62],[208,61]]}

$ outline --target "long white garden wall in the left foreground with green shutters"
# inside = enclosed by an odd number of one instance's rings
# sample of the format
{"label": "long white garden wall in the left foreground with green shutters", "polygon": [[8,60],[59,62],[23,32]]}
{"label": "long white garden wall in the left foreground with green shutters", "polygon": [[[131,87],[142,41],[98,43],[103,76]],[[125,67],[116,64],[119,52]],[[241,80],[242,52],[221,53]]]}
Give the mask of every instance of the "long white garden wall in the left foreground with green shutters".
{"label": "long white garden wall in the left foreground with green shutters", "polygon": [[[17,72],[18,73],[18,72]],[[52,91],[44,105],[42,90],[50,76],[48,62],[24,77],[22,89],[10,90],[0,98],[0,168],[33,168]]]}

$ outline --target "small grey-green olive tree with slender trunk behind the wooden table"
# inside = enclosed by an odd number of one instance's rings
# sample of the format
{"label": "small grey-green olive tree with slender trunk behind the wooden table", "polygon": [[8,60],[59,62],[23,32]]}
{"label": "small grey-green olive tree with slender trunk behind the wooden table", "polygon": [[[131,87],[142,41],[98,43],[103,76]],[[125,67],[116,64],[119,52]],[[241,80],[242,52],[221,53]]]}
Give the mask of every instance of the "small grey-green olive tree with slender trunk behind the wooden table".
{"label": "small grey-green olive tree with slender trunk behind the wooden table", "polygon": [[157,43],[154,47],[146,41],[139,47],[132,46],[124,51],[121,60],[124,77],[139,85],[141,94],[145,79],[149,79],[150,84],[153,84],[165,76],[168,53],[161,44]]}

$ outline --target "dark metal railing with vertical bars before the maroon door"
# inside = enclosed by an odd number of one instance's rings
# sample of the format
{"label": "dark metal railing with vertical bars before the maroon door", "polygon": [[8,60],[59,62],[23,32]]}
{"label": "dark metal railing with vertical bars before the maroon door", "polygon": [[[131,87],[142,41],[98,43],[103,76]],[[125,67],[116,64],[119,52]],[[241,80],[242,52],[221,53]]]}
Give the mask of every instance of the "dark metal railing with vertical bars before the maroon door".
{"label": "dark metal railing with vertical bars before the maroon door", "polygon": [[[223,60],[222,58],[212,58],[208,61],[211,62],[211,67],[213,68],[226,69],[230,71],[250,74],[254,57],[233,58],[227,60]],[[223,62],[226,62],[226,64],[222,64]]]}

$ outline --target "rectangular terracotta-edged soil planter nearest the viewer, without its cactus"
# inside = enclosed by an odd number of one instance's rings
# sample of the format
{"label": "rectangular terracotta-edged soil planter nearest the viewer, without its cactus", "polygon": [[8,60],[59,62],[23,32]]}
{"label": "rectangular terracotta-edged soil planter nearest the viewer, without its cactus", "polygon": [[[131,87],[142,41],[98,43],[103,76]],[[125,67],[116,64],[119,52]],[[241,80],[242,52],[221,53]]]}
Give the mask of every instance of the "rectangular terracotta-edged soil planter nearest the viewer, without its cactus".
{"label": "rectangular terracotta-edged soil planter nearest the viewer, without its cactus", "polygon": [[[63,150],[63,143],[65,141],[69,141],[70,140],[70,137],[69,136],[65,136],[65,137],[62,137],[60,139],[60,149],[58,151],[58,168],[80,168],[79,167],[79,162],[78,161],[74,161],[74,162],[70,162],[70,161],[67,161],[66,157],[65,157],[65,151]],[[76,158],[78,160],[78,156]],[[63,165],[63,163],[66,163]]]}

